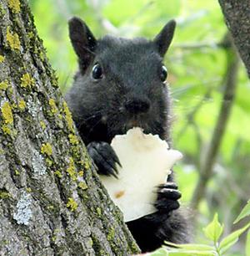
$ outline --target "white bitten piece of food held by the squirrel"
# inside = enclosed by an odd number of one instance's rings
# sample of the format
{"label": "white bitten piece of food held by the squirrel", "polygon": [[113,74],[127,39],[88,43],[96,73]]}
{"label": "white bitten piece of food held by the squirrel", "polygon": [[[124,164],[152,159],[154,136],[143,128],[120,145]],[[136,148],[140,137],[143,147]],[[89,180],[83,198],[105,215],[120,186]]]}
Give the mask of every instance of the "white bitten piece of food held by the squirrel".
{"label": "white bitten piece of food held by the squirrel", "polygon": [[100,176],[113,202],[120,207],[124,221],[132,221],[156,212],[157,187],[165,183],[173,164],[182,158],[168,148],[158,135],[144,134],[135,127],[126,135],[115,136],[111,143],[121,166],[115,177]]}

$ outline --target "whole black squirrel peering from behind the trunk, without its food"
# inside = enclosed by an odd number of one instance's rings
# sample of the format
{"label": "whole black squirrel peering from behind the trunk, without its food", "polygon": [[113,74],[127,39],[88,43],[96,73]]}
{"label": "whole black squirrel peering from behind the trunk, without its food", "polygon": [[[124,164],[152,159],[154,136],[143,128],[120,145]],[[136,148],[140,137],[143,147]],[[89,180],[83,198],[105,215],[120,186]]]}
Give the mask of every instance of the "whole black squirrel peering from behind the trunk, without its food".
{"label": "whole black squirrel peering from behind the trunk, without its food", "polygon": [[[70,19],[69,37],[79,70],[66,100],[100,175],[117,177],[120,162],[110,143],[134,126],[171,143],[168,70],[163,57],[175,26],[173,20],[168,22],[152,41],[109,35],[97,40],[80,18]],[[165,184],[159,184],[157,212],[127,223],[142,252],[159,248],[165,240],[188,242],[180,197],[172,173]]]}

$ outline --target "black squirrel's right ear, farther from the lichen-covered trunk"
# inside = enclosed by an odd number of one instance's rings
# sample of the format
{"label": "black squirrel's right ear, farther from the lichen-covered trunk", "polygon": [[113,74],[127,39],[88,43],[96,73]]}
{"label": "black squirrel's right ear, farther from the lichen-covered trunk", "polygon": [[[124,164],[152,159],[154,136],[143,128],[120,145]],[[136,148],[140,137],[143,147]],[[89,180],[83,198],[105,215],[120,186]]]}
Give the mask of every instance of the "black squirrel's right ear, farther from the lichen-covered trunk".
{"label": "black squirrel's right ear, farther from the lichen-covered trunk", "polygon": [[153,39],[153,43],[158,48],[158,53],[163,57],[166,54],[169,45],[173,39],[174,29],[176,27],[176,22],[172,19],[169,21],[160,33]]}

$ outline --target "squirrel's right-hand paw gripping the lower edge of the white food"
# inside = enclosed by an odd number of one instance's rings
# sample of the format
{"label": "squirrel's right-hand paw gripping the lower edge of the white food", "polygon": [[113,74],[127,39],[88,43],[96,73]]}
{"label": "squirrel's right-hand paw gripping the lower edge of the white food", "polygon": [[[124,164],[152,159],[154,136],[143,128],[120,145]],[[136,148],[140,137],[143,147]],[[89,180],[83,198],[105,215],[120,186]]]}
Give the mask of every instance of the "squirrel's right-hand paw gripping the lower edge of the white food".
{"label": "squirrel's right-hand paw gripping the lower edge of the white food", "polygon": [[178,199],[182,197],[178,191],[178,186],[173,182],[167,182],[158,187],[158,199],[154,203],[154,207],[160,212],[172,212],[180,207]]}

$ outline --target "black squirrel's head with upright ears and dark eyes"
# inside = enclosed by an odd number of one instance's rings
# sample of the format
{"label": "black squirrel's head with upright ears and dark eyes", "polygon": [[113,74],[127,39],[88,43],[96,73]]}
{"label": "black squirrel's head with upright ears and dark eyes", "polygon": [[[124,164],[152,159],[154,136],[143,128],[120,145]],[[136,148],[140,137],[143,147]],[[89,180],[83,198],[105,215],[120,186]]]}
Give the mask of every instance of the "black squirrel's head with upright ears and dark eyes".
{"label": "black squirrel's head with upright ears and dark eyes", "polygon": [[110,35],[97,40],[80,18],[71,18],[68,24],[79,63],[69,103],[74,118],[84,125],[107,125],[111,137],[133,126],[161,136],[169,101],[163,57],[175,21],[168,22],[153,40]]}

